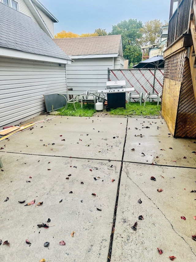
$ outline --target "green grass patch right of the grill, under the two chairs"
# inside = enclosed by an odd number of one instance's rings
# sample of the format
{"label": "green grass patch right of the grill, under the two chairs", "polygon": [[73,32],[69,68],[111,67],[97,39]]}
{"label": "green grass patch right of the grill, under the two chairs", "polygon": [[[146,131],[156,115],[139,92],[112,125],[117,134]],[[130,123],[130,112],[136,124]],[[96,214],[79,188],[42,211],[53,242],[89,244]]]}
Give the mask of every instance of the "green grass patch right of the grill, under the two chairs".
{"label": "green grass patch right of the grill, under the two chairs", "polygon": [[111,115],[159,115],[160,114],[160,105],[157,106],[157,102],[146,102],[144,104],[139,102],[126,104],[126,109],[116,108],[111,109]]}

